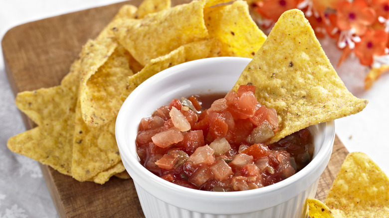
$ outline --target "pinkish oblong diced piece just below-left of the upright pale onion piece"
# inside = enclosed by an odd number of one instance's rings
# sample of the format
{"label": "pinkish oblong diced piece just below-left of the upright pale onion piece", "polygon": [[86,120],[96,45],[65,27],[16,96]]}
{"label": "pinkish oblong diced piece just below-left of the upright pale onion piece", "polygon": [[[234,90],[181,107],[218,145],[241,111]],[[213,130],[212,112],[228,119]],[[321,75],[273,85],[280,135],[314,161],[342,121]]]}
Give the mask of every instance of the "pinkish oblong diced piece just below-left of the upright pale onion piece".
{"label": "pinkish oblong diced piece just below-left of the upright pale onion piece", "polygon": [[151,139],[157,146],[166,148],[172,144],[184,140],[184,135],[178,128],[172,127],[170,129],[155,134],[153,137],[151,137]]}

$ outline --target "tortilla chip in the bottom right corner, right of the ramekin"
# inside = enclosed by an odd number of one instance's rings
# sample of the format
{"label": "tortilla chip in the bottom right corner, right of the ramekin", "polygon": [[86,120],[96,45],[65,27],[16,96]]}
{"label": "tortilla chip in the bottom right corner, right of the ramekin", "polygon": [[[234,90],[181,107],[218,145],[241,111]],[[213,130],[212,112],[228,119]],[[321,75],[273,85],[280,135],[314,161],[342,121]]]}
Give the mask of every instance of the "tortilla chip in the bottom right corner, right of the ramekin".
{"label": "tortilla chip in the bottom right corner, right of the ramekin", "polygon": [[368,155],[352,152],[324,203],[335,217],[388,218],[389,178]]}

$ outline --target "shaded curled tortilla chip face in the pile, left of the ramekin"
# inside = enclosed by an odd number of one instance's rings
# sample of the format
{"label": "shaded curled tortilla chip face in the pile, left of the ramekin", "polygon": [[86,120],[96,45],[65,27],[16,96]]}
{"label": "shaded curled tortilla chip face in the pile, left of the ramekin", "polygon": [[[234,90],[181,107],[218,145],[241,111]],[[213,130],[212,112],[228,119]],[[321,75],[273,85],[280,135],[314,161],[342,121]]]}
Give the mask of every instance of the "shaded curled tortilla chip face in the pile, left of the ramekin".
{"label": "shaded curled tortilla chip face in the pile, left of the ramekin", "polygon": [[85,83],[80,85],[81,113],[86,124],[103,125],[116,118],[123,104],[120,94],[133,75],[130,54],[119,45],[108,60]]}

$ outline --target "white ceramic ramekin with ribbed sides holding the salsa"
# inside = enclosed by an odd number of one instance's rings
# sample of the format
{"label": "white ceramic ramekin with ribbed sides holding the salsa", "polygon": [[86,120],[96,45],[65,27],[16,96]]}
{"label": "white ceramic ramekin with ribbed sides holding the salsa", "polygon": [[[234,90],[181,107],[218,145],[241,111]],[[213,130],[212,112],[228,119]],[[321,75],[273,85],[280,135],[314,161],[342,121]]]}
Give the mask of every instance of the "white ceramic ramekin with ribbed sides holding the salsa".
{"label": "white ceramic ramekin with ribbed sides holding the salsa", "polygon": [[187,62],[151,77],[124,102],[116,120],[116,140],[134,180],[147,218],[302,218],[314,198],[334,143],[334,122],[309,127],[314,158],[304,169],[274,185],[238,192],[208,192],[181,187],[149,172],[140,163],[135,138],[142,117],[172,99],[228,92],[251,59],[216,57]]}

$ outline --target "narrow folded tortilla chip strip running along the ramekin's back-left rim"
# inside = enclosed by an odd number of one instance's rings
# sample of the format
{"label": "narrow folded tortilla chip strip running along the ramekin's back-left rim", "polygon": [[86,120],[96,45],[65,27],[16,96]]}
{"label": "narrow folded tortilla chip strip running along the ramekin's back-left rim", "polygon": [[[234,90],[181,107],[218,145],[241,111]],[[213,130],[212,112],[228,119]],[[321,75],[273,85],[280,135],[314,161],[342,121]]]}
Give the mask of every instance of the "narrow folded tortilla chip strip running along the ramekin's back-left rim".
{"label": "narrow folded tortilla chip strip running along the ramekin's back-left rim", "polygon": [[139,73],[128,78],[128,87],[121,96],[122,100],[124,101],[135,88],[153,75],[187,61],[216,57],[220,54],[220,47],[217,40],[205,39],[180,46],[167,55],[151,60]]}

